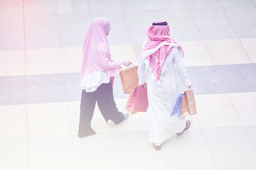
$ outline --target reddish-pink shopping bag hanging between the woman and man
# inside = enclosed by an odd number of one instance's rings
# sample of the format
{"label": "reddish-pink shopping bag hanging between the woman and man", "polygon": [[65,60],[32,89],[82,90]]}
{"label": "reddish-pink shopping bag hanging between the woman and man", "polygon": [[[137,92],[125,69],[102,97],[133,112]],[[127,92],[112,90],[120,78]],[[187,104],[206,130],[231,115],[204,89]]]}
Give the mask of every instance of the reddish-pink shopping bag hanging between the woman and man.
{"label": "reddish-pink shopping bag hanging between the woman and man", "polygon": [[149,101],[146,86],[137,86],[129,95],[125,109],[131,113],[146,112],[149,107]]}

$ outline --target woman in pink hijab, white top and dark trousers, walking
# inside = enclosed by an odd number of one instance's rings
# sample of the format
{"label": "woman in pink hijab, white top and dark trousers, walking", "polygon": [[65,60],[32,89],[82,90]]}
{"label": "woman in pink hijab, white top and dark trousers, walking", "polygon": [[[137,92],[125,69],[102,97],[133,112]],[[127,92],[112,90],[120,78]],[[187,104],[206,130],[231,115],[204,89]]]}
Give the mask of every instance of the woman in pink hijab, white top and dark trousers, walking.
{"label": "woman in pink hijab, white top and dark trousers, walking", "polygon": [[100,108],[103,118],[121,123],[129,113],[121,113],[114,102],[110,77],[119,74],[122,65],[129,66],[129,61],[112,61],[107,35],[110,33],[110,21],[106,18],[95,18],[83,44],[83,60],[80,72],[82,97],[80,104],[80,124],[78,137],[96,134],[91,128],[95,103]]}

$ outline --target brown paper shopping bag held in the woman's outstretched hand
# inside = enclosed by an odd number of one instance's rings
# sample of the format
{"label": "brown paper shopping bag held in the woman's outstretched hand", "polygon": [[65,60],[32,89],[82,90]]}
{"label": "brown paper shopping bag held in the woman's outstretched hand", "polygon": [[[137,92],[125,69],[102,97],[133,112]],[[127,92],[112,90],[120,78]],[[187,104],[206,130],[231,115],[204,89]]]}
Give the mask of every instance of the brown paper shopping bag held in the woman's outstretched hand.
{"label": "brown paper shopping bag held in the woman's outstretched hand", "polygon": [[129,67],[120,72],[120,79],[124,94],[131,94],[135,87],[139,86],[138,66]]}

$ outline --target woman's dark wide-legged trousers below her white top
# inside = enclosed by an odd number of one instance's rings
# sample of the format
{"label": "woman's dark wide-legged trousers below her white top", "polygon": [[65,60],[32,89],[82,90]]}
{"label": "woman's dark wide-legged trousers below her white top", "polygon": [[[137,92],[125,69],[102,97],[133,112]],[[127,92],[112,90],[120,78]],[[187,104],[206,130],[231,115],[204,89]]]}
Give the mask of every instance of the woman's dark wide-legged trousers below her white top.
{"label": "woman's dark wide-legged trousers below her white top", "polygon": [[85,137],[94,135],[96,132],[91,128],[92,115],[95,111],[95,104],[100,108],[103,118],[112,120],[115,124],[124,120],[124,114],[119,112],[114,102],[112,83],[101,84],[96,91],[85,92],[82,90],[80,104],[80,123],[78,136]]}

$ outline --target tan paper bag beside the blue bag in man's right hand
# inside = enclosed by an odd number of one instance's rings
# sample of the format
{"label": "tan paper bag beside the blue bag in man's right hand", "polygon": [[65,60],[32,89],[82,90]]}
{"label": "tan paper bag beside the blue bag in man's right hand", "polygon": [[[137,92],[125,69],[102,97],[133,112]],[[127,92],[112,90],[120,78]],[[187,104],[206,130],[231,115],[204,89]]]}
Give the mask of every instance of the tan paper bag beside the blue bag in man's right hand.
{"label": "tan paper bag beside the blue bag in man's right hand", "polygon": [[197,113],[193,90],[187,90],[183,93],[181,115],[184,115],[186,112],[188,112],[189,115],[194,115]]}

